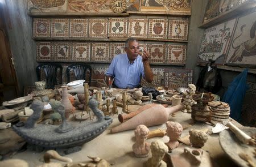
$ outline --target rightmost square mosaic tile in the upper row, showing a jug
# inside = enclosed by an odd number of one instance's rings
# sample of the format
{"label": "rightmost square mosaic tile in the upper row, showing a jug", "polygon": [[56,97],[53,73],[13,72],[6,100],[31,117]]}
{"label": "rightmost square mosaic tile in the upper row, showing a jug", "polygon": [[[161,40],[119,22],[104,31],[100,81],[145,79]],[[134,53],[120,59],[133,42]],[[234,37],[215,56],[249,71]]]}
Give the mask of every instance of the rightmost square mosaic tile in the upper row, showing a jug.
{"label": "rightmost square mosaic tile in the upper row, showing a jug", "polygon": [[170,19],[168,38],[171,40],[187,40],[188,19]]}

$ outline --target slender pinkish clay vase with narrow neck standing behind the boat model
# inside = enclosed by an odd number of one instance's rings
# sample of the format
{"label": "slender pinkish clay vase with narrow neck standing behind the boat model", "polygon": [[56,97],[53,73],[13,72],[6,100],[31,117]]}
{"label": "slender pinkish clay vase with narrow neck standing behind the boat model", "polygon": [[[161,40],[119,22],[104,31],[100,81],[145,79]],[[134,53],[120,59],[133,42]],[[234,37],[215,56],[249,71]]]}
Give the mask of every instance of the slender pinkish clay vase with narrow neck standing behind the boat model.
{"label": "slender pinkish clay vase with narrow neck standing behind the boat model", "polygon": [[65,118],[69,118],[69,115],[73,111],[73,105],[71,104],[71,101],[68,99],[68,85],[61,86],[62,88],[62,100],[61,104],[65,108]]}

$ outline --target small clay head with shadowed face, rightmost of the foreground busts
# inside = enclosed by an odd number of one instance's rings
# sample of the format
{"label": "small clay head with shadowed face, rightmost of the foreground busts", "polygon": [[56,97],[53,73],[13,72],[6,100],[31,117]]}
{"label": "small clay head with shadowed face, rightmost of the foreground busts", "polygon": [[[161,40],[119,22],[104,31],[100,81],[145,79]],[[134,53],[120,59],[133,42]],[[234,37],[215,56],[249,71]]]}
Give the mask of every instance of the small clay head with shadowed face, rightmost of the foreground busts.
{"label": "small clay head with shadowed face, rightmost of the foreground busts", "polygon": [[207,142],[208,136],[205,132],[191,129],[189,130],[189,140],[193,147],[201,148]]}

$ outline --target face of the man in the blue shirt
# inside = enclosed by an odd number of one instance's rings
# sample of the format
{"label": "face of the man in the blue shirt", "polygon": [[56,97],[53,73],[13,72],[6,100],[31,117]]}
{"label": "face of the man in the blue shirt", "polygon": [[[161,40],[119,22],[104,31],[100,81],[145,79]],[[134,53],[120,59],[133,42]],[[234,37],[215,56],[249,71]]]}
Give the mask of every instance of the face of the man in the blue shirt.
{"label": "face of the man in the blue shirt", "polygon": [[137,41],[130,41],[128,47],[125,48],[130,61],[135,61],[139,55],[139,43]]}

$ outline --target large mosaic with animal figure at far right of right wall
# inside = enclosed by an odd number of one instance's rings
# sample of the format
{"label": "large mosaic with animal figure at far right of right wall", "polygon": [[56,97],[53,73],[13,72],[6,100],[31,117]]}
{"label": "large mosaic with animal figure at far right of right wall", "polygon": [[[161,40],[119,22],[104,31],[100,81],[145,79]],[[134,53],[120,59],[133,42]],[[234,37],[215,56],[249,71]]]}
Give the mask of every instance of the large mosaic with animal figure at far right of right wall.
{"label": "large mosaic with animal figure at far right of right wall", "polygon": [[226,63],[256,65],[256,11],[238,18]]}

